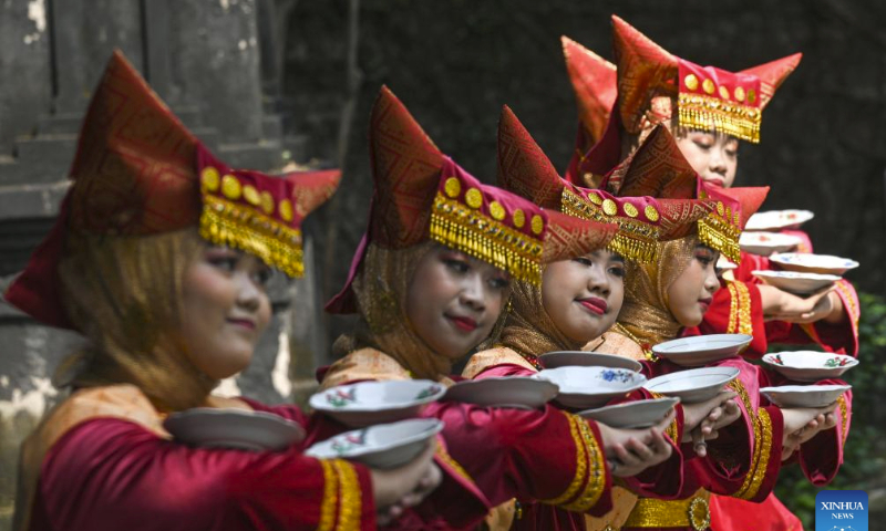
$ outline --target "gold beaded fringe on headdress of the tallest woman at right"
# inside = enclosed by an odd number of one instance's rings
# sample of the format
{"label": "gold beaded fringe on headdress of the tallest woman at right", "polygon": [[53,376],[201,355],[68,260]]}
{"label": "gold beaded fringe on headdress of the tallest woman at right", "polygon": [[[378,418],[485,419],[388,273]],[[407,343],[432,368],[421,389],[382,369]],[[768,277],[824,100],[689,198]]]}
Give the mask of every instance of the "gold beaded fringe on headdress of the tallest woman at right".
{"label": "gold beaded fringe on headdress of the tallest woman at right", "polygon": [[756,107],[684,92],[679,94],[677,107],[683,127],[714,129],[754,144],[760,142],[763,113]]}

